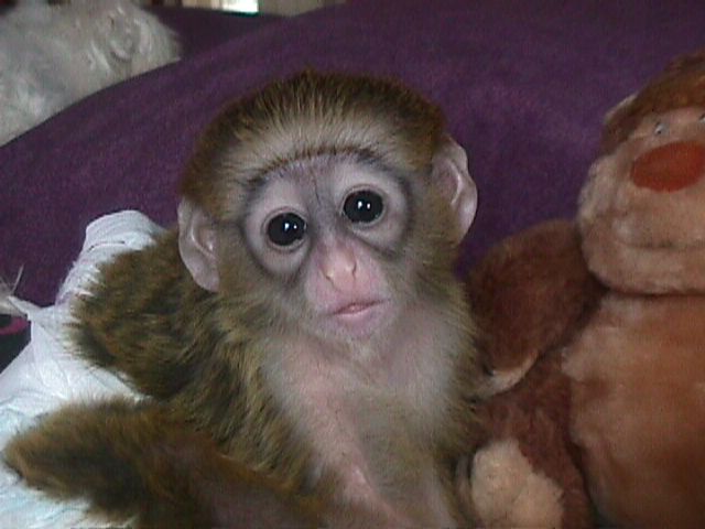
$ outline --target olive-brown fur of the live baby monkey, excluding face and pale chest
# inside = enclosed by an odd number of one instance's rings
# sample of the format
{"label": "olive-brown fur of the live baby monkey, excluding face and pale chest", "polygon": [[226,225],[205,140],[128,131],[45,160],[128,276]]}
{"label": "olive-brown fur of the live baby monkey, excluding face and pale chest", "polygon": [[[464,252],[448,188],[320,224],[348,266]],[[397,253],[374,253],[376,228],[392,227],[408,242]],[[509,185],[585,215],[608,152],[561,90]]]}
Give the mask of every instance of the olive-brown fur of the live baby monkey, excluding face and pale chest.
{"label": "olive-brown fur of the live baby monkey, excluding face and pale chest", "polygon": [[[437,410],[438,425],[423,433],[427,439],[415,445],[413,438],[398,442],[388,433],[392,445],[427,449],[447,501],[459,510],[454,472],[479,436],[478,365],[473,320],[453,277],[449,214],[424,187],[442,132],[437,108],[397,84],[306,73],[226,109],[198,144],[182,191],[218,225],[236,220],[243,207],[239,190],[291,160],[355,151],[394,171],[419,173],[416,196],[425,190],[429,212],[419,208],[405,251],[416,256],[406,258],[419,259],[421,270],[411,279],[416,284],[403,284],[409,278],[402,277],[394,284],[411,299],[443,307],[463,346],[448,359],[454,371],[445,409]],[[83,357],[124,376],[145,400],[61,410],[15,438],[6,461],[32,486],[58,497],[88,497],[97,511],[113,519],[137,516],[142,527],[164,520],[181,520],[182,527],[231,522],[232,510],[248,498],[254,505],[271,501],[282,519],[318,523],[318,515],[330,510],[322,511],[322,505],[335,501],[329,496],[336,478],[324,474],[312,489],[311,446],[264,378],[263,336],[283,325],[272,309],[276,294],[268,291],[263,272],[248,264],[237,239],[223,250],[237,263],[220,270],[223,290],[202,289],[182,262],[177,239],[171,231],[108,263],[75,309],[74,337]],[[398,436],[409,433],[421,435]],[[228,497],[238,495],[242,501],[228,506]],[[408,503],[423,509],[414,498]]]}

